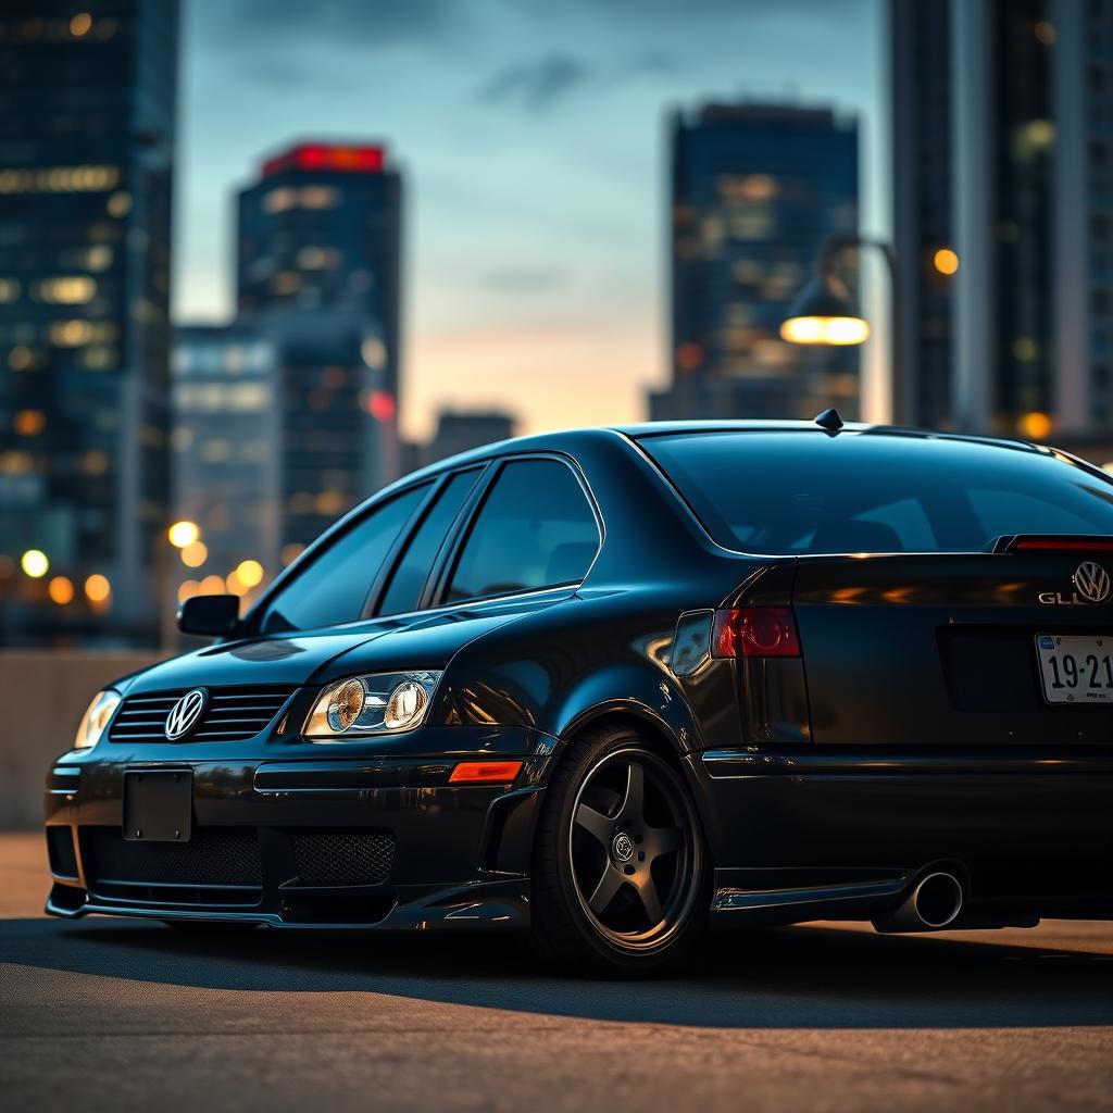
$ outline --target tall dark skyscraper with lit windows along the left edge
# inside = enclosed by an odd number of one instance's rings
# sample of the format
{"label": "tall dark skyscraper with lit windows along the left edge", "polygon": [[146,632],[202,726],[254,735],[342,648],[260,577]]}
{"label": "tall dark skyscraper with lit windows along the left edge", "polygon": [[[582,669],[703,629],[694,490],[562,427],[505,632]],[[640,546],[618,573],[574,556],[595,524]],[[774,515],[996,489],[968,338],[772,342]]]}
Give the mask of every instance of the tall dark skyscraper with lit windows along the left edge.
{"label": "tall dark skyscraper with lit windows along the left edge", "polygon": [[3,642],[157,636],[177,42],[177,0],[0,12]]}

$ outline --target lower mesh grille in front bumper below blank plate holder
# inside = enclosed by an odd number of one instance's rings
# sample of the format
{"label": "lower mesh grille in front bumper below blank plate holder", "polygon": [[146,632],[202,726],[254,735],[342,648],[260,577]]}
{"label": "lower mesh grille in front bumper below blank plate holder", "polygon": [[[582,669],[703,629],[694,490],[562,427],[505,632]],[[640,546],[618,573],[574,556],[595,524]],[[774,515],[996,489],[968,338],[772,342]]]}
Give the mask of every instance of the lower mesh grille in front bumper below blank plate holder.
{"label": "lower mesh grille in front bumper below blank plate holder", "polygon": [[81,831],[89,887],[100,883],[177,886],[263,885],[259,840],[254,829],[197,828],[188,843],[131,843],[117,827]]}

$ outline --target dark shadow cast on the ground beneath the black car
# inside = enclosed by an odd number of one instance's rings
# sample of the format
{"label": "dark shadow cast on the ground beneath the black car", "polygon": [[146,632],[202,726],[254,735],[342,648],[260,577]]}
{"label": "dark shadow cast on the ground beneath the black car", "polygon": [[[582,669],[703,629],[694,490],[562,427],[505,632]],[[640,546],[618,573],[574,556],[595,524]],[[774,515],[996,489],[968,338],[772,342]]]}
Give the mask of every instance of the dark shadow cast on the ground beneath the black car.
{"label": "dark shadow cast on the ground beneath the black car", "polygon": [[380,993],[551,1016],[747,1028],[1113,1024],[1113,958],[868,932],[712,936],[669,975],[588,979],[539,968],[511,937],[0,922],[0,961],[256,993]]}

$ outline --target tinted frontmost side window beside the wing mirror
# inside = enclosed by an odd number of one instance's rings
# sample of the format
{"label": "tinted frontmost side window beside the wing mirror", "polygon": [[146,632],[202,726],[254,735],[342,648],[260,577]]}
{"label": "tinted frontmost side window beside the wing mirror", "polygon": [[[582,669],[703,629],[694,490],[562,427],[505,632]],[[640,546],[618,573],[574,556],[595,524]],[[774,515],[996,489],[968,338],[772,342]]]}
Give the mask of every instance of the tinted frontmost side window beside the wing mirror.
{"label": "tinted frontmost side window beside the wing mirror", "polygon": [[309,630],[359,618],[380,565],[427,492],[427,483],[406,491],[338,536],[278,592],[260,629]]}

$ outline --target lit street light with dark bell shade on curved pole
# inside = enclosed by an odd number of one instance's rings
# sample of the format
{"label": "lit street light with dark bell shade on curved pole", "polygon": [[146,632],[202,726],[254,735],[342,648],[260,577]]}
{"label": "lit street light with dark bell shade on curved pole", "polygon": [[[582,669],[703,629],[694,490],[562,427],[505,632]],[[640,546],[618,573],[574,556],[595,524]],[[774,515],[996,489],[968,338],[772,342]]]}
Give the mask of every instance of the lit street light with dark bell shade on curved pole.
{"label": "lit street light with dark bell shade on curved pole", "polygon": [[900,288],[893,248],[866,236],[828,236],[819,247],[816,273],[789,306],[780,326],[781,339],[792,344],[863,344],[869,338],[869,323],[855,305],[846,283],[839,277],[837,257],[849,248],[873,247],[885,257],[892,294],[893,337],[889,357],[893,421],[905,418],[905,383],[900,371]]}

